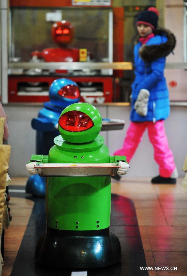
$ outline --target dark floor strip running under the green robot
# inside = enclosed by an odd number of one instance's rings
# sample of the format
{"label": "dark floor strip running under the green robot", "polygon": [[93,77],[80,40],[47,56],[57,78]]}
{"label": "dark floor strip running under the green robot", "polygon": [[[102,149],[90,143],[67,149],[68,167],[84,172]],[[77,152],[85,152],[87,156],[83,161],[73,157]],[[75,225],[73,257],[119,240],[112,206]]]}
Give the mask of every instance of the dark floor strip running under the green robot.
{"label": "dark floor strip running under the green robot", "polygon": [[[33,200],[35,205],[10,276],[71,276],[72,270],[48,269],[35,263],[34,254],[36,243],[39,236],[46,230],[45,199],[39,197],[28,197],[28,194],[23,193],[10,193],[10,197],[11,196],[26,197]],[[122,250],[121,262],[107,268],[89,269],[87,270],[87,275],[149,275],[147,271],[140,270],[140,266],[146,266],[145,254],[141,242],[134,204],[129,198],[112,194],[110,230],[114,232],[120,240]],[[85,271],[85,269],[83,271]]]}

